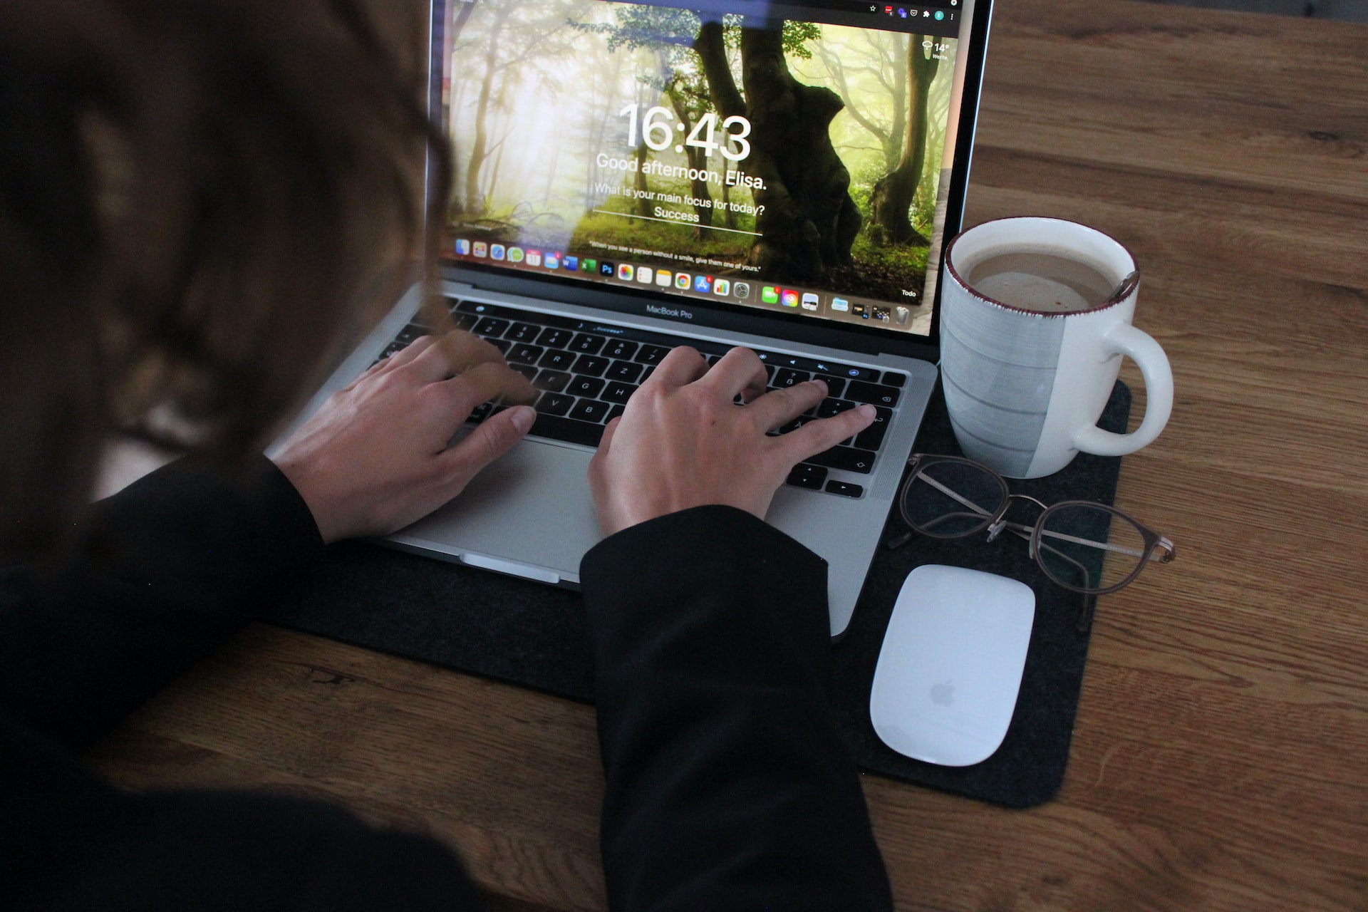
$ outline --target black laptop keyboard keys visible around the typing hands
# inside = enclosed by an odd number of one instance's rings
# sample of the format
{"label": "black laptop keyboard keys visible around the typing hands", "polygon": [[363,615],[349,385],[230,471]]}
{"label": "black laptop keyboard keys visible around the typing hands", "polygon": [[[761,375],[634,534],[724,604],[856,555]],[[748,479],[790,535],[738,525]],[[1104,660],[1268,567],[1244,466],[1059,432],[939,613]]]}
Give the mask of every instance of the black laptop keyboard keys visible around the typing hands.
{"label": "black laptop keyboard keys visible around the typing hands", "polygon": [[[540,395],[531,433],[553,440],[596,447],[603,425],[622,414],[628,398],[651,375],[661,358],[680,345],[694,346],[715,364],[732,347],[707,339],[672,336],[635,327],[613,325],[477,301],[450,299],[457,328],[466,330],[503,353],[509,366],[532,381]],[[428,330],[415,319],[384,349],[380,358],[402,350]],[[757,350],[769,373],[769,388],[791,387],[814,377],[826,381],[828,397],[806,414],[772,435],[795,431],[807,421],[839,414],[863,402],[874,406],[874,424],[839,446],[799,464],[788,484],[858,498],[863,485],[829,479],[832,469],[869,474],[884,443],[884,432],[907,383],[897,371],[880,372],[804,356]],[[486,402],[471,414],[480,423],[503,406]]]}

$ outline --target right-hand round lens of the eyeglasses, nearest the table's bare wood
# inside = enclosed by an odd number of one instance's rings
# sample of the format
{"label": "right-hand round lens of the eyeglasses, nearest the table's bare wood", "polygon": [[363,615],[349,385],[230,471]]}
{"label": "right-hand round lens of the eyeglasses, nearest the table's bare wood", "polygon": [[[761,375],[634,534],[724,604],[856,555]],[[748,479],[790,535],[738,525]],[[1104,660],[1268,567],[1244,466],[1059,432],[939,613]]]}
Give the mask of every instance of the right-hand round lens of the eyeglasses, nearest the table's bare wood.
{"label": "right-hand round lens of the eyeglasses, nearest the table's bare wood", "polygon": [[1071,589],[1097,592],[1120,585],[1144,559],[1140,528],[1100,505],[1066,503],[1041,517],[1038,561],[1047,576]]}

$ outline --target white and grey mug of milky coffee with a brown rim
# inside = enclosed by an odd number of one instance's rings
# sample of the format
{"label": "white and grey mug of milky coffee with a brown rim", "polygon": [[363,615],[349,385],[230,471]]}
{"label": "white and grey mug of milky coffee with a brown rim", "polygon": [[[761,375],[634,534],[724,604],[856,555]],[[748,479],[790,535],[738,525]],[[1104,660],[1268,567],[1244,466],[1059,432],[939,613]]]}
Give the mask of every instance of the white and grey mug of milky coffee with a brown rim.
{"label": "white and grey mug of milky coffee with a brown rim", "polygon": [[[1164,429],[1174,375],[1131,325],[1140,278],[1120,243],[1075,222],[999,219],[945,247],[941,381],[964,455],[1000,474],[1038,479],[1079,451],[1124,455]],[[1122,356],[1145,379],[1130,433],[1097,427]]]}

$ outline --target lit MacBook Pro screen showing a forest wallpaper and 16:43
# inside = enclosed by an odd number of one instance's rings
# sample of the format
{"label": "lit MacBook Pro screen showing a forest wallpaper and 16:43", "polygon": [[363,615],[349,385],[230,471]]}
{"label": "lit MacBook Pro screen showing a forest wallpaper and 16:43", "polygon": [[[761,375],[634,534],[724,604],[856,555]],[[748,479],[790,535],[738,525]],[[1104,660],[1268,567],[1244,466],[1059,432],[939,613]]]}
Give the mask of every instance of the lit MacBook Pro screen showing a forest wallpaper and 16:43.
{"label": "lit MacBook Pro screen showing a forest wallpaper and 16:43", "polygon": [[616,286],[659,316],[925,339],[967,179],[973,19],[974,0],[454,0],[434,36],[443,260]]}

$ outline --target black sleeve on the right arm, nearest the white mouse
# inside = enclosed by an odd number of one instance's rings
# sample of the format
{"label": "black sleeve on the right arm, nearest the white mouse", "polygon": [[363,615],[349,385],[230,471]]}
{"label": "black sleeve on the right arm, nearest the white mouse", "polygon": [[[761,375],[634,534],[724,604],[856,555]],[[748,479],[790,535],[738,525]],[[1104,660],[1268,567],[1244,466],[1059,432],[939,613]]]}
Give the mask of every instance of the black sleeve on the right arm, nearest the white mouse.
{"label": "black sleeve on the right arm, nearest the white mouse", "polygon": [[825,563],[711,506],[606,539],[580,577],[610,908],[891,909],[826,703]]}

